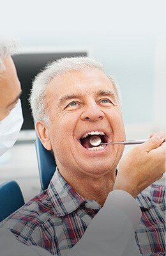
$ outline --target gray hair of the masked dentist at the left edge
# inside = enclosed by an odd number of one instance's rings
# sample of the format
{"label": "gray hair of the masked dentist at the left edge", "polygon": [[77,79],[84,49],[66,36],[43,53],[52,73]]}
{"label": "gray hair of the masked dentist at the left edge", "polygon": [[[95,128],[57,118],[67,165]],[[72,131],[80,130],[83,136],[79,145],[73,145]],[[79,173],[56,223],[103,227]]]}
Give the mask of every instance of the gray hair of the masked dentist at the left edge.
{"label": "gray hair of the masked dentist at the left edge", "polygon": [[7,56],[17,54],[20,44],[15,39],[0,37],[0,72],[5,70],[4,59]]}

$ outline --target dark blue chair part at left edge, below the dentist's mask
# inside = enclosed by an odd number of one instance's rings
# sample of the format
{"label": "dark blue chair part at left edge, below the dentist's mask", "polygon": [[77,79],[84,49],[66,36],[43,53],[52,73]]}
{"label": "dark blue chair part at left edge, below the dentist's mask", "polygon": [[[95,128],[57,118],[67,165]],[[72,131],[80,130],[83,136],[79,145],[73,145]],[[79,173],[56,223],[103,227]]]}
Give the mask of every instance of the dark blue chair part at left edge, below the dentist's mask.
{"label": "dark blue chair part at left edge, below the dentist's mask", "polygon": [[15,180],[0,185],[0,222],[24,204],[22,192]]}

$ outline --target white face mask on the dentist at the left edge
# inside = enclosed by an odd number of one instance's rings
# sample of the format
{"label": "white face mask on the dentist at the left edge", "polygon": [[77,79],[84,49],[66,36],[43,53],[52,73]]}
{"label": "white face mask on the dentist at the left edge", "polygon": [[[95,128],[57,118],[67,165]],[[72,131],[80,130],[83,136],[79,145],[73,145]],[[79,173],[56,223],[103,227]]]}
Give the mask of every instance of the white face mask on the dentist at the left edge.
{"label": "white face mask on the dentist at the left edge", "polygon": [[0,156],[11,148],[22,127],[23,116],[20,99],[8,116],[0,121]]}

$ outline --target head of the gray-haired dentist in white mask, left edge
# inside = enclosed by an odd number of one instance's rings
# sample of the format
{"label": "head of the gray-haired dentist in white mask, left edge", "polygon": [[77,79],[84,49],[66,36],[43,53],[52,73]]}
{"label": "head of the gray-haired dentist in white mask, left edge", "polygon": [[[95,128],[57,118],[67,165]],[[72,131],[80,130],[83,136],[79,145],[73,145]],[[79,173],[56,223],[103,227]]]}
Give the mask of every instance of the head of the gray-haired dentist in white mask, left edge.
{"label": "head of the gray-haired dentist in white mask, left edge", "polygon": [[16,51],[14,42],[0,41],[0,156],[14,145],[23,123],[22,90],[10,56]]}

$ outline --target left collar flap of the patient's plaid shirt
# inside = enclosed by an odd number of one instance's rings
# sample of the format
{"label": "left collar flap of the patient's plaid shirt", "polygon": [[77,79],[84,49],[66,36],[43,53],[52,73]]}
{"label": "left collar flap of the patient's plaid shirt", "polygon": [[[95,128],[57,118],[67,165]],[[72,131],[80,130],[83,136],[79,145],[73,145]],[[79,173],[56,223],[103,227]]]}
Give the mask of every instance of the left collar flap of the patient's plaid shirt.
{"label": "left collar flap of the patient's plaid shirt", "polygon": [[49,184],[48,194],[58,216],[70,214],[86,201],[63,179],[57,168]]}

